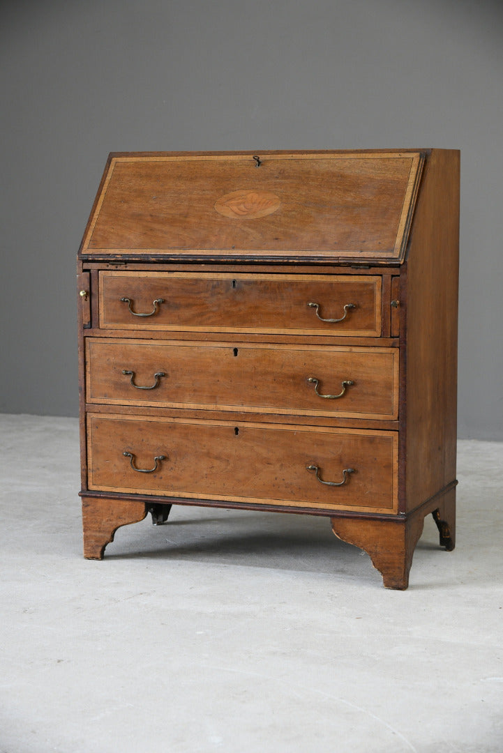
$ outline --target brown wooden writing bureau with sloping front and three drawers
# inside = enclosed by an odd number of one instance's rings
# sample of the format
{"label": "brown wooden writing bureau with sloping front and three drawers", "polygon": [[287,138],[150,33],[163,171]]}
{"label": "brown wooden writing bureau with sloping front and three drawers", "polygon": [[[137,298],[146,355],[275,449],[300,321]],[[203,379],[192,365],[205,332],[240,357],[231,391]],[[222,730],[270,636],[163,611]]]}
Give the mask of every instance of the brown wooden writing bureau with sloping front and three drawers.
{"label": "brown wooden writing bureau with sloping front and three drawers", "polygon": [[454,547],[459,152],[111,154],[78,259],[84,556],[172,504]]}

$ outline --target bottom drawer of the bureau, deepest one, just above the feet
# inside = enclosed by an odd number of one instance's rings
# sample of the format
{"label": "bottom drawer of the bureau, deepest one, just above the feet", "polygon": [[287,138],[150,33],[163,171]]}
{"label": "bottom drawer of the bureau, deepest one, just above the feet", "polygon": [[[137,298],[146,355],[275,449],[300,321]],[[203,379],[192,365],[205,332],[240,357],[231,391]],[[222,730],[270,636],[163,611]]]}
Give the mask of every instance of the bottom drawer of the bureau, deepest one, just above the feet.
{"label": "bottom drawer of the bureau, deepest one, just above the feet", "polygon": [[394,431],[90,414],[87,441],[93,490],[280,507],[397,509]]}

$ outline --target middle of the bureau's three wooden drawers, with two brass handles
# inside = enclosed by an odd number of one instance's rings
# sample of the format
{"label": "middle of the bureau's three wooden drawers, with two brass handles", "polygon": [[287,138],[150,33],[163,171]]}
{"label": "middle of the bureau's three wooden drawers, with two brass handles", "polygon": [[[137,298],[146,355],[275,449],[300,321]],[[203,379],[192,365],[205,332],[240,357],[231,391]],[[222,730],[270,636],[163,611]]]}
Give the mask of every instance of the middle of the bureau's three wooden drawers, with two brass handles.
{"label": "middle of the bureau's three wooden drawers, with two brass handles", "polygon": [[87,402],[393,420],[398,349],[89,338]]}

